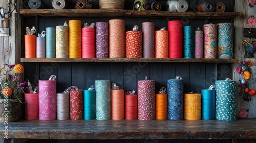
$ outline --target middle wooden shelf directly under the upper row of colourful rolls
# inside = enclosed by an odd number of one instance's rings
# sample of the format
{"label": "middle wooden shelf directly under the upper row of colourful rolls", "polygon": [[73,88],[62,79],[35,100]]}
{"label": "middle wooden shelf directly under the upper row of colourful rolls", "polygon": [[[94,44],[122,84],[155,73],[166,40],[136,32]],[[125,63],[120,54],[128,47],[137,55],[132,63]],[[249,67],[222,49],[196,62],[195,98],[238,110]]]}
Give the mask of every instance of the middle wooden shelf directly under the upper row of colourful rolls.
{"label": "middle wooden shelf directly under the upper row of colourful rolls", "polygon": [[187,63],[238,63],[238,59],[159,59],[159,58],[21,58],[21,62],[187,62]]}

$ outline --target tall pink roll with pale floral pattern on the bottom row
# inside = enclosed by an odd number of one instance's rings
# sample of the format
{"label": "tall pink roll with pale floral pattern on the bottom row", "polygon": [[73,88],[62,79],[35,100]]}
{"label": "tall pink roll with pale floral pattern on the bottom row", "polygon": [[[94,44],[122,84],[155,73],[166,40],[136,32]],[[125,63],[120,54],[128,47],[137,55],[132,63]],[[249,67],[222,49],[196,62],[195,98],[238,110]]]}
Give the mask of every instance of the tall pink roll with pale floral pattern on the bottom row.
{"label": "tall pink roll with pale floral pattern on the bottom row", "polygon": [[39,120],[56,120],[56,81],[38,81]]}

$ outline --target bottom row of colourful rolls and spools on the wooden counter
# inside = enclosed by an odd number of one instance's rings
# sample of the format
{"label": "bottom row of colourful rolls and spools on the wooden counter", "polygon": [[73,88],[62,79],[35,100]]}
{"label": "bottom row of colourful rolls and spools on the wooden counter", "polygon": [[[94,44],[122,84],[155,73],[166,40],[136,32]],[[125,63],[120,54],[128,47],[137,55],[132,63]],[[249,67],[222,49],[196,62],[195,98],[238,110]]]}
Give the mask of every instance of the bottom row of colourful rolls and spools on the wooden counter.
{"label": "bottom row of colourful rolls and spools on the wooden counter", "polygon": [[96,80],[95,90],[56,93],[56,81],[39,81],[38,93],[25,93],[26,120],[223,120],[236,116],[236,81],[217,80],[216,90],[183,93],[181,78],[167,80],[155,93],[154,80],[138,81],[135,91],[111,89],[110,80]]}

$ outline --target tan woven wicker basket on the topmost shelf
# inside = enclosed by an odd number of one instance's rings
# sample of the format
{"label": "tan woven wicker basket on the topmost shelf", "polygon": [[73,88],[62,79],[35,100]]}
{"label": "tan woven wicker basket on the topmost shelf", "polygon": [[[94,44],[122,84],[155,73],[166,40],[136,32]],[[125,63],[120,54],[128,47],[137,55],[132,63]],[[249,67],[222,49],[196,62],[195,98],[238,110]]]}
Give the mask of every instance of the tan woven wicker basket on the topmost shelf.
{"label": "tan woven wicker basket on the topmost shelf", "polygon": [[99,0],[100,9],[124,9],[124,0]]}

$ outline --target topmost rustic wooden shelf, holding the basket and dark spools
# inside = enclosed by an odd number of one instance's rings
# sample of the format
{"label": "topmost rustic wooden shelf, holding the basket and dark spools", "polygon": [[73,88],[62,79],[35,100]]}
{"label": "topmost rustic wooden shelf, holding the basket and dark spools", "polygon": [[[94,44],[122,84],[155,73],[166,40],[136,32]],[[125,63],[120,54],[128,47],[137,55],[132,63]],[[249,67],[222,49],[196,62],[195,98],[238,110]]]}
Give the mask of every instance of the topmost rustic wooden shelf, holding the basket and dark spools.
{"label": "topmost rustic wooden shelf, holding the basket and dark spools", "polygon": [[181,18],[189,19],[232,19],[240,12],[168,12],[168,11],[133,11],[122,9],[20,9],[19,14],[44,17],[152,17],[152,18]]}

